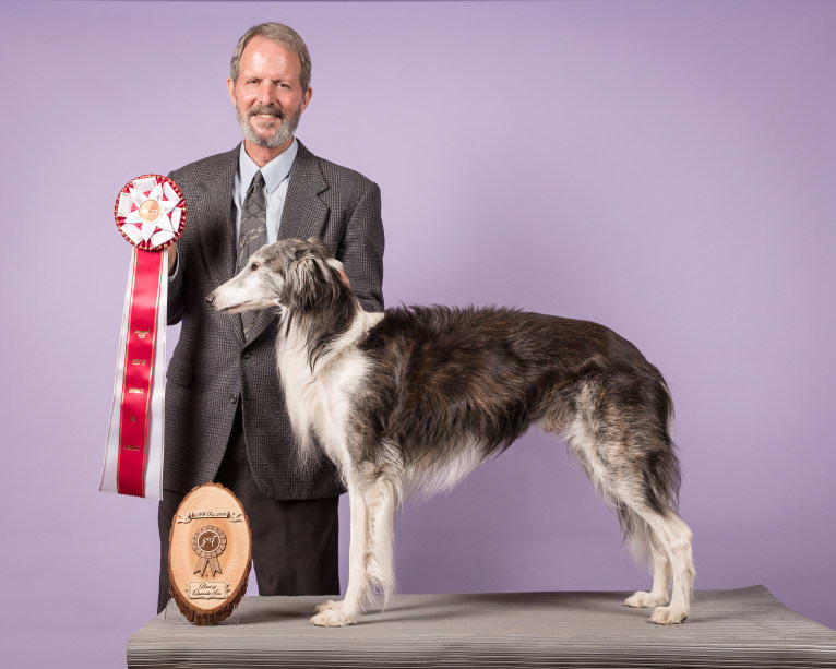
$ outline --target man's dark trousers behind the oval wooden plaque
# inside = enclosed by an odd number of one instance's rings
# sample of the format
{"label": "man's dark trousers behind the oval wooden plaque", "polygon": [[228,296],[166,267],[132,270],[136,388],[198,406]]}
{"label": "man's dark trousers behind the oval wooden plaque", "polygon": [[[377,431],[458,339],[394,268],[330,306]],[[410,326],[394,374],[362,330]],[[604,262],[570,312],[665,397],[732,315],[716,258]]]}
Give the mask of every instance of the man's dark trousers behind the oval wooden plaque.
{"label": "man's dark trousers behind the oval wooden plaque", "polygon": [[[247,457],[241,409],[232,426],[215,481],[243,504],[252,533],[252,562],[260,595],[338,595],[339,498],[280,501],[265,497]],[[157,612],[168,602],[168,534],[184,493],[165,490],[159,503],[159,594]]]}

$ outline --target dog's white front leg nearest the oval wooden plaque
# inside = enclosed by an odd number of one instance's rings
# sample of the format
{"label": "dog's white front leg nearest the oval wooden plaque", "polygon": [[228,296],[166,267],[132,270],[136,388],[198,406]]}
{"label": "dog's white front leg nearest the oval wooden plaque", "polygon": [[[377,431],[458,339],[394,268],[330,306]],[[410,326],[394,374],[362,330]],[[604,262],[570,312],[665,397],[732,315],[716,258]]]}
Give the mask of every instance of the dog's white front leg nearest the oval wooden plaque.
{"label": "dog's white front leg nearest the oval wooden plaque", "polygon": [[351,536],[348,545],[348,587],[342,601],[326,601],[317,607],[311,618],[314,625],[339,628],[350,625],[362,612],[369,594],[369,575],[366,569],[368,541],[368,513],[360,491],[348,486],[348,510],[351,518]]}

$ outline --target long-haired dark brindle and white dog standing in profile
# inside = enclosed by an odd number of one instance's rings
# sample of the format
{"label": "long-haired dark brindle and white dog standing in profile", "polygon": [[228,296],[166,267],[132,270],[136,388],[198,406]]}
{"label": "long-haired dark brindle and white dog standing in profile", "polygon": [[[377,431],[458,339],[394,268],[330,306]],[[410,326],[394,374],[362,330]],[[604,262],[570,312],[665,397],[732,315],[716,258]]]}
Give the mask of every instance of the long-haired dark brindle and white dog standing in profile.
{"label": "long-haired dark brindle and white dog standing in profile", "polygon": [[[680,623],[693,597],[692,533],[677,513],[672,402],[659,371],[611,330],[513,309],[365,311],[318,239],[262,247],[206,300],[278,307],[276,360],[300,462],[324,453],[350,509],[345,599],[311,622],[351,624],[394,590],[395,511],[455,485],[532,423],[563,437],[612,505],[653,587],[623,601]],[[344,275],[343,275],[344,276]]]}

